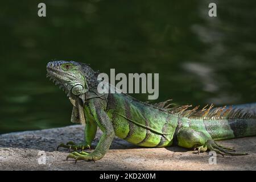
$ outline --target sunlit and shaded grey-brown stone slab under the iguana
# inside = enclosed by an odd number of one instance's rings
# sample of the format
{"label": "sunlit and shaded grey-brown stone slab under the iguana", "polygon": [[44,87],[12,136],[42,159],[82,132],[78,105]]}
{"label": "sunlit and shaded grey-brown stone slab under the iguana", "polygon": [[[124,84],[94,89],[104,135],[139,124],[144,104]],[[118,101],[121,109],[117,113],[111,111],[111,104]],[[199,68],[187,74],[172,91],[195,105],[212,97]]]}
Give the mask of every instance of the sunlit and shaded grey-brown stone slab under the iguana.
{"label": "sunlit and shaded grey-brown stone slab under the iguana", "polygon": [[[209,164],[208,152],[196,154],[180,147],[141,148],[115,138],[109,152],[96,162],[75,162],[65,158],[68,151],[56,146],[69,140],[82,142],[84,127],[73,125],[57,129],[24,131],[0,135],[1,170],[255,170],[256,137],[220,141],[246,156],[217,155],[217,164]],[[93,148],[101,131],[93,142]],[[45,151],[46,164],[40,154]],[[43,154],[43,153],[42,153]]]}

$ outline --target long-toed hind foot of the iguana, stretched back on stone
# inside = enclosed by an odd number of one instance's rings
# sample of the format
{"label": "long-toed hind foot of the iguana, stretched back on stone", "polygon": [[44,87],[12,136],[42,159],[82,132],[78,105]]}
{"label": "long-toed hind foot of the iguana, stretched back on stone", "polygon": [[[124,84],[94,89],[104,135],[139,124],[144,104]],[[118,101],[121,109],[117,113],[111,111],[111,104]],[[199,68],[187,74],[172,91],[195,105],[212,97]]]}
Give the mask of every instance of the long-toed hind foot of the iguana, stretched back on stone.
{"label": "long-toed hind foot of the iguana, stretched back on stone", "polygon": [[204,144],[204,146],[195,147],[194,150],[198,150],[198,154],[200,154],[200,151],[215,151],[218,154],[224,155],[248,155],[247,153],[242,152],[236,152],[233,148],[222,146],[221,144],[218,144],[212,139],[207,140],[207,142]]}

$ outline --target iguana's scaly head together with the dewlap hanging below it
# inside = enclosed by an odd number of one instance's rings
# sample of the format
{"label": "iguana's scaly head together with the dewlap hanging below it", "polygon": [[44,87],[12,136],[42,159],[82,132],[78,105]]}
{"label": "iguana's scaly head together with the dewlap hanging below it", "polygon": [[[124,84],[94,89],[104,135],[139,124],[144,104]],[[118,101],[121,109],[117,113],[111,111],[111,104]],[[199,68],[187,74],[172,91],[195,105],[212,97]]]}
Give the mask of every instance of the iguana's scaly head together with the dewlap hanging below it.
{"label": "iguana's scaly head together with the dewlap hanging below it", "polygon": [[89,90],[97,88],[97,72],[84,63],[51,61],[47,64],[47,77],[67,93],[73,105],[71,121],[85,123],[83,105]]}

